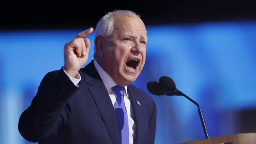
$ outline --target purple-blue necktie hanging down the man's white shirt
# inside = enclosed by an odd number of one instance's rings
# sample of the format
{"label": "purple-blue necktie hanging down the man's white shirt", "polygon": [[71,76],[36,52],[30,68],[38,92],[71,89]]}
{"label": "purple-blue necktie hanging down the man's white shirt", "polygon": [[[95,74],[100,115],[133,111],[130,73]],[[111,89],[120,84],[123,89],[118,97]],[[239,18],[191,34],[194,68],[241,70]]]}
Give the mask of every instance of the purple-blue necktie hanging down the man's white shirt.
{"label": "purple-blue necktie hanging down the man's white shirt", "polygon": [[124,105],[124,87],[116,85],[112,87],[112,90],[117,95],[115,111],[120,139],[122,144],[129,144],[128,116]]}

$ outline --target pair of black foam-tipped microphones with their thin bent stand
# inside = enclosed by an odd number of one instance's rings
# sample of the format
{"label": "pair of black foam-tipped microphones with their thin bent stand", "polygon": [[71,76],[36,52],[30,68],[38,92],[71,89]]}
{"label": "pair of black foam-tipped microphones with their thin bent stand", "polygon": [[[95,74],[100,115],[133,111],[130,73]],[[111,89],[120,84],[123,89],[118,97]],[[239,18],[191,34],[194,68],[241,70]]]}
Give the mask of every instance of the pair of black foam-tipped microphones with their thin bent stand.
{"label": "pair of black foam-tipped microphones with their thin bent stand", "polygon": [[203,118],[203,115],[202,115],[202,111],[201,111],[201,108],[200,108],[199,104],[197,102],[195,102],[194,100],[192,100],[190,97],[188,97],[186,94],[184,94],[180,90],[178,90],[176,88],[176,84],[172,80],[172,78],[169,78],[168,76],[162,76],[159,79],[159,83],[154,82],[154,81],[148,82],[147,89],[151,94],[154,94],[156,96],[161,96],[161,95],[165,95],[165,96],[184,96],[185,98],[190,100],[190,102],[193,102],[198,108],[198,114],[200,116],[200,120],[201,120],[202,127],[203,127],[203,130],[204,130],[204,136],[205,136],[206,139],[209,138],[207,130],[206,130],[206,126],[205,126],[205,123],[204,123],[204,118]]}

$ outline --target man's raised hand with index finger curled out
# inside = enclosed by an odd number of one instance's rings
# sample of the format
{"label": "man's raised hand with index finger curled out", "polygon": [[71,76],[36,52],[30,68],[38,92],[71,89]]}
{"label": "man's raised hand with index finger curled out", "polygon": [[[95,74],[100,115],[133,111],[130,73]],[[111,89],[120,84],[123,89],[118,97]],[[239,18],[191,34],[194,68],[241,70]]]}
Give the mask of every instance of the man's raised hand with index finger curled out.
{"label": "man's raised hand with index finger curled out", "polygon": [[93,28],[89,28],[88,30],[79,33],[73,40],[67,42],[64,46],[64,70],[71,77],[75,77],[80,68],[88,60],[90,40],[86,38],[86,36],[92,32]]}

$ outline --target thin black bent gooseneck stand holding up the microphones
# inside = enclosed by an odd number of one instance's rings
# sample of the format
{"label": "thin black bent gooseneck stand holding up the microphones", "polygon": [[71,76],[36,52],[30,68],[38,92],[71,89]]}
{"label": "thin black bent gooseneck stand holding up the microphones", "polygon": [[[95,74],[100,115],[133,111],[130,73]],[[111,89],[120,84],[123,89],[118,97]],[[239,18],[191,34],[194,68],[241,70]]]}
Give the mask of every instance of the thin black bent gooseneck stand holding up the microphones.
{"label": "thin black bent gooseneck stand holding up the microphones", "polygon": [[199,106],[199,104],[197,102],[195,102],[194,100],[192,100],[190,97],[188,97],[186,94],[184,94],[183,92],[181,92],[180,90],[178,90],[177,88],[174,89],[174,91],[168,91],[166,92],[164,95],[166,96],[184,96],[186,99],[188,99],[190,102],[193,102],[197,108],[198,108],[198,114],[200,116],[200,120],[201,120],[201,123],[202,123],[202,127],[204,129],[204,136],[206,139],[209,138],[208,136],[208,133],[207,133],[207,130],[206,130],[206,126],[204,124],[204,118],[203,118],[203,115],[202,115],[202,111],[201,111],[201,108]]}

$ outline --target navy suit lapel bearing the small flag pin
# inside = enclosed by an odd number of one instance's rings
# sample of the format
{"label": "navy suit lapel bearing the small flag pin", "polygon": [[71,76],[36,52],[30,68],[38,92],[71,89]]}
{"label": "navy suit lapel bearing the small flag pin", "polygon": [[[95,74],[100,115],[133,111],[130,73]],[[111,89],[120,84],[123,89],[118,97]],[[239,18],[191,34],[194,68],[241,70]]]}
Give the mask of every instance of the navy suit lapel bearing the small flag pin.
{"label": "navy suit lapel bearing the small flag pin", "polygon": [[[134,144],[142,144],[144,136],[144,128],[146,128],[144,118],[146,117],[146,105],[143,104],[138,91],[134,88],[132,84],[128,85],[127,92],[131,99],[131,105],[133,113],[135,116],[136,124],[136,138],[134,139]],[[138,104],[139,103],[139,104]]]}

